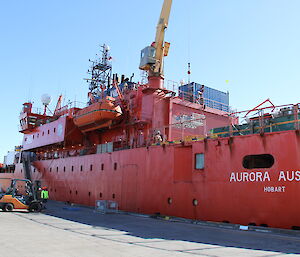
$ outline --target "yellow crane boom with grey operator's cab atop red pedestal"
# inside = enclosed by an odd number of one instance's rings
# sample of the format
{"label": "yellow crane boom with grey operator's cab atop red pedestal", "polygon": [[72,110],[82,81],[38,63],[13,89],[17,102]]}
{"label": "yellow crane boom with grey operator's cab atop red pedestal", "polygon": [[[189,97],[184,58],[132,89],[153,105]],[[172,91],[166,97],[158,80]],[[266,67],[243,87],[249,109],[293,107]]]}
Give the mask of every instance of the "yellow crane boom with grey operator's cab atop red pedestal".
{"label": "yellow crane boom with grey operator's cab atop red pedestal", "polygon": [[[141,51],[140,69],[148,71],[149,79],[164,76],[164,57],[168,55],[170,43],[165,42],[165,30],[168,27],[172,0],[164,0],[156,28],[155,42]],[[149,80],[150,81],[150,80]],[[161,87],[161,86],[158,86]]]}

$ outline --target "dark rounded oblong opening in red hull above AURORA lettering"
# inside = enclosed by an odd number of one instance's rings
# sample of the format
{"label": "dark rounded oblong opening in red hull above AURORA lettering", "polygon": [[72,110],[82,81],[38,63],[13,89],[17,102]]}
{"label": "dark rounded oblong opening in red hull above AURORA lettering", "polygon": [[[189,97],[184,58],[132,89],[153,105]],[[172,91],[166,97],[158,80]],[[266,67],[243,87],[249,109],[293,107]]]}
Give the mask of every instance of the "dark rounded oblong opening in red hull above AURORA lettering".
{"label": "dark rounded oblong opening in red hull above AURORA lettering", "polygon": [[243,158],[243,167],[245,169],[271,168],[275,160],[271,154],[246,155]]}

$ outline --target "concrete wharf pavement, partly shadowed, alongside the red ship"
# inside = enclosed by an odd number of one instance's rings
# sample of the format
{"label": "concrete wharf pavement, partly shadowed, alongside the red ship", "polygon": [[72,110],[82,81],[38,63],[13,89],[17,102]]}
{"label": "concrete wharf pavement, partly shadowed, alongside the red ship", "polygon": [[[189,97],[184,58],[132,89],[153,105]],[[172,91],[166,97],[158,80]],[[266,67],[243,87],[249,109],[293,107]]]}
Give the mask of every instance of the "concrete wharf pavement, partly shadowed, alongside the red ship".
{"label": "concrete wharf pavement, partly shadowed, alongside the red ship", "polygon": [[298,256],[299,231],[153,219],[50,201],[43,213],[0,212],[5,256]]}

